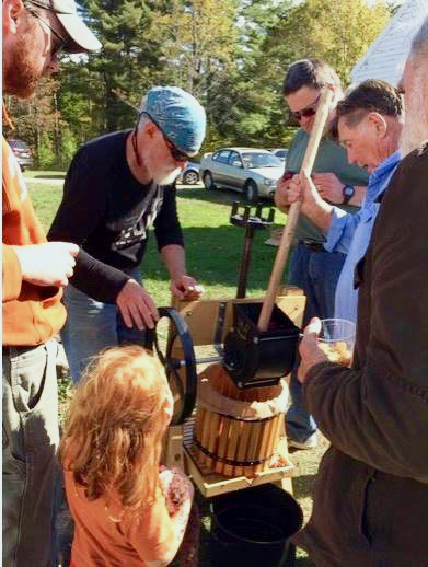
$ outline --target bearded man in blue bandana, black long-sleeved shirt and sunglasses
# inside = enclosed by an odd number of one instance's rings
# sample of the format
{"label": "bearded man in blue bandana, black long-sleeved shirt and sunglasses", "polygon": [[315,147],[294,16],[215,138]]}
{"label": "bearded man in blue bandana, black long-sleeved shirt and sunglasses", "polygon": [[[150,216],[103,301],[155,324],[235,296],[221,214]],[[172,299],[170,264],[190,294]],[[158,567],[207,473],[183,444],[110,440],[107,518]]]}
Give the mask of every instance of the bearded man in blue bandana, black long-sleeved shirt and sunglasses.
{"label": "bearded man in blue bandana, black long-sleeved shirt and sunglasses", "polygon": [[65,294],[69,317],[61,335],[74,382],[90,357],[111,346],[143,345],[144,328],[158,321],[140,274],[151,225],[173,296],[201,294],[186,270],[175,178],[198,153],[205,129],[194,96],[157,86],[142,99],[135,128],[92,140],[73,158],[48,239],[82,248]]}

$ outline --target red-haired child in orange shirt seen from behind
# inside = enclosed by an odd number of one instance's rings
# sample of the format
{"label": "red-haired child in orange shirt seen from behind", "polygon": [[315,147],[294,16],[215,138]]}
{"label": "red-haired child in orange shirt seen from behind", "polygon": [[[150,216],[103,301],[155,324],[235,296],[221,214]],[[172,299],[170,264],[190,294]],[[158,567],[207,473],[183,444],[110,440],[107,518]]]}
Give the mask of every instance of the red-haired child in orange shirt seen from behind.
{"label": "red-haired child in orange shirt seen from behind", "polygon": [[161,473],[172,396],[141,347],[104,351],[71,402],[60,456],[74,520],[71,566],[162,567],[186,528],[192,484]]}

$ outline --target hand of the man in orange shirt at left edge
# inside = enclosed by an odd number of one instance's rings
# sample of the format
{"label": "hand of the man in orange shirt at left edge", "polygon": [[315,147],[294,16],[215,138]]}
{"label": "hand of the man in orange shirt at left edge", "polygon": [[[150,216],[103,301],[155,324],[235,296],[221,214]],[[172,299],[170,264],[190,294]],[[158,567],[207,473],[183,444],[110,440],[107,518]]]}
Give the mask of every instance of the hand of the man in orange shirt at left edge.
{"label": "hand of the man in orange shirt at left edge", "polygon": [[36,286],[67,286],[73,275],[79,246],[72,242],[44,242],[13,246],[22,279]]}

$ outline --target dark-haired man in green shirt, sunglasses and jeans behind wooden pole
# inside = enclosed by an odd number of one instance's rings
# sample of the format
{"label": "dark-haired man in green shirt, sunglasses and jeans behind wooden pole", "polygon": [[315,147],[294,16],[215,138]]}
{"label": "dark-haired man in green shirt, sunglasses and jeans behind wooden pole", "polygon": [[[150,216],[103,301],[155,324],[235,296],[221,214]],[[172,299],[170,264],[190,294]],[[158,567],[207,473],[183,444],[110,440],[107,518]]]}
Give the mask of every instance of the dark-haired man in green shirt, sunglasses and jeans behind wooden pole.
{"label": "dark-haired man in green shirt, sunglasses and jeans behind wooden pole", "polygon": [[[290,66],[282,93],[300,129],[287,154],[288,171],[300,171],[323,89],[334,92],[329,108],[329,120],[333,120],[335,106],[343,96],[340,80],[334,69],[320,59],[302,59]],[[291,178],[289,175],[287,177],[279,183],[275,195],[275,201],[282,210],[288,207],[287,192]],[[347,212],[356,212],[356,206],[360,205],[367,189],[368,172],[350,165],[346,151],[324,136],[313,167],[313,181],[323,199]],[[346,256],[340,252],[327,252],[324,234],[304,215],[300,215],[296,235],[288,281],[303,289],[306,296],[303,324],[312,316],[333,317],[336,284]],[[290,392],[292,403],[286,416],[289,444],[311,449],[317,442],[316,424],[304,407],[296,372],[291,374]]]}

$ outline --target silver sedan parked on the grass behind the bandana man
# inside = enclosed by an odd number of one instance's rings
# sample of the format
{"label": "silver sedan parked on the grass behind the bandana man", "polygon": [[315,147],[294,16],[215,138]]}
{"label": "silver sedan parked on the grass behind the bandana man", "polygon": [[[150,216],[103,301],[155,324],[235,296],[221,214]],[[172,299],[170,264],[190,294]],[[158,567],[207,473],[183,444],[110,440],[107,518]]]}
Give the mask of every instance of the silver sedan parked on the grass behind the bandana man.
{"label": "silver sedan parked on the grass behind the bandana man", "polygon": [[201,160],[200,172],[207,189],[227,187],[256,202],[259,197],[274,196],[284,164],[268,150],[222,148]]}

